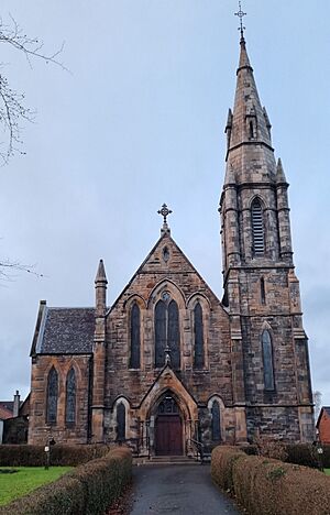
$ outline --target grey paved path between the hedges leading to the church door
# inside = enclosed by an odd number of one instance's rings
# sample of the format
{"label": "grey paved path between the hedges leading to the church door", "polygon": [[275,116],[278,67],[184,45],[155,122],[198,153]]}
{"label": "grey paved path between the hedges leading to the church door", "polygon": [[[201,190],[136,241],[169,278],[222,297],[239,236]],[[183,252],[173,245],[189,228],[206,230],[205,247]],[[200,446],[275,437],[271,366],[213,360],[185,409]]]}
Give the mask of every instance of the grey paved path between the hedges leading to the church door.
{"label": "grey paved path between the hedges leading to the church door", "polygon": [[133,469],[131,515],[238,515],[212,484],[210,465],[141,465]]}

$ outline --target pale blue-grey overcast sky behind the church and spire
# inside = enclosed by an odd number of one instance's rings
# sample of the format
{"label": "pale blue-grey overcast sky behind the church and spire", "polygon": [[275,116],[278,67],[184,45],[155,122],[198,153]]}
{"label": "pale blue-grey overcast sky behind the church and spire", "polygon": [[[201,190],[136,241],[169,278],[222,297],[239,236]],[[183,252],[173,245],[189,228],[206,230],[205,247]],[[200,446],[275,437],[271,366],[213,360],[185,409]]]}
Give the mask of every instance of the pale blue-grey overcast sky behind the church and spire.
{"label": "pale blue-grey overcast sky behind the church and spire", "polygon": [[[290,183],[295,264],[314,390],[330,405],[330,30],[327,0],[246,0],[248,51]],[[1,44],[2,73],[37,110],[24,151],[0,168],[0,258],[35,264],[0,283],[0,398],[30,387],[40,299],[108,304],[160,235],[172,235],[221,297],[223,134],[239,58],[232,0],[2,0],[66,73]]]}

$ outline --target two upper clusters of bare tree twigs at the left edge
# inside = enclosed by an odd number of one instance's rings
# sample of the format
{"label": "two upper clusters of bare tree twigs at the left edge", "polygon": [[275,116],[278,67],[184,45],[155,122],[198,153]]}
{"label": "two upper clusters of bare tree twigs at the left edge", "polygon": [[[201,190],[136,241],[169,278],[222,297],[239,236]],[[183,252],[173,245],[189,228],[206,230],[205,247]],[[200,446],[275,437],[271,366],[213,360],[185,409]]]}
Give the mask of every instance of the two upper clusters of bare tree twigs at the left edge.
{"label": "two upper clusters of bare tree twigs at the left edge", "polygon": [[[64,64],[58,61],[64,43],[54,53],[44,52],[43,41],[37,37],[29,37],[12,17],[10,17],[9,24],[6,24],[0,18],[0,43],[22,53],[29,66],[32,66],[33,59],[42,59],[66,69]],[[0,162],[7,164],[14,154],[24,153],[21,150],[21,122],[33,121],[35,112],[25,106],[24,94],[10,86],[3,75],[3,68],[4,63],[0,63],[0,127],[4,139],[0,146]]]}

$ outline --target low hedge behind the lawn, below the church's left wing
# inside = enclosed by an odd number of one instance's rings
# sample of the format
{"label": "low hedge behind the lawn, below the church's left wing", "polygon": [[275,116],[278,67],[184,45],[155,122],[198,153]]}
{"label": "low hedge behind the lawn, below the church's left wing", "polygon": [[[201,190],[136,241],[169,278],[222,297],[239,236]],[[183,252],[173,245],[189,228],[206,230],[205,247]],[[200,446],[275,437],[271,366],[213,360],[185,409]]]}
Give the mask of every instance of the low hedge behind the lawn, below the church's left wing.
{"label": "low hedge behind the lawn, below the church's left wing", "polygon": [[[51,447],[51,464],[79,465],[96,458],[102,458],[110,447],[95,446],[61,446]],[[0,467],[43,467],[45,464],[44,446],[0,446]]]}

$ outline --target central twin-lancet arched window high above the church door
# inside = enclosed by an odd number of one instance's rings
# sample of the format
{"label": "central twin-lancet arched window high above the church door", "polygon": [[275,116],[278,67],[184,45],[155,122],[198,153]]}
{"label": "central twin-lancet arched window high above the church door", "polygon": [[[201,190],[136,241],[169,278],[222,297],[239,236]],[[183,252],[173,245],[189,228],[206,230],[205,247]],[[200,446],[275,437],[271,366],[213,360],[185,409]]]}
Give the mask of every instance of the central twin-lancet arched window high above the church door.
{"label": "central twin-lancet arched window high above the church door", "polygon": [[155,365],[165,364],[165,348],[170,350],[170,363],[175,369],[180,366],[179,313],[175,300],[165,296],[155,307]]}

